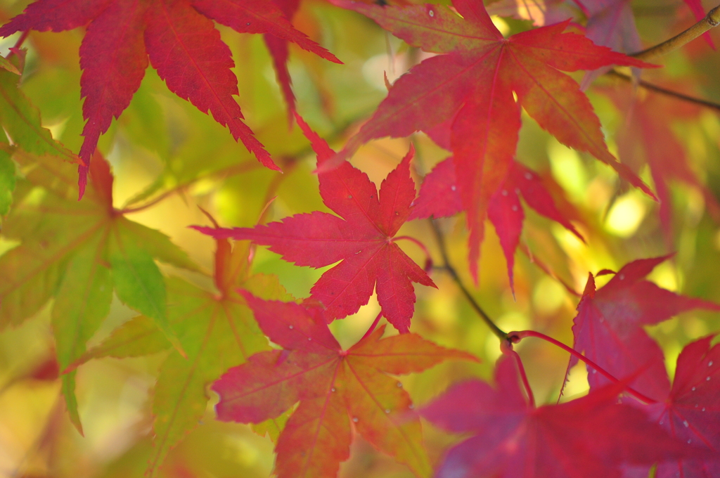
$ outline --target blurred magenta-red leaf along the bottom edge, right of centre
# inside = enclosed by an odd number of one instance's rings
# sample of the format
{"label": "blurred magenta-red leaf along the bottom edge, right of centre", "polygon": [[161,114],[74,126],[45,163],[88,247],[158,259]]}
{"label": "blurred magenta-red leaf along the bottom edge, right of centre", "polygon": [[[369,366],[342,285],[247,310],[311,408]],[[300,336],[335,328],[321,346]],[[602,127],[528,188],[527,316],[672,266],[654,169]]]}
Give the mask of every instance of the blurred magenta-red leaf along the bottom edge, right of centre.
{"label": "blurred magenta-red leaf along the bottom edge, right of centre", "polygon": [[456,384],[420,415],[456,433],[437,478],[619,478],[624,464],[653,464],[695,451],[668,436],[636,407],[618,404],[622,384],[562,405],[530,407],[512,360],[495,369],[496,389]]}

